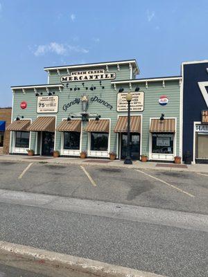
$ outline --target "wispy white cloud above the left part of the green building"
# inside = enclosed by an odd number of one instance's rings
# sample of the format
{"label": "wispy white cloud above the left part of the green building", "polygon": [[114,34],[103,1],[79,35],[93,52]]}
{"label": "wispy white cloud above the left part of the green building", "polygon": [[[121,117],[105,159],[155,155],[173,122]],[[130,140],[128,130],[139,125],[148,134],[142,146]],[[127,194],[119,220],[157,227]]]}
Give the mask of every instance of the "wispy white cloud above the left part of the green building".
{"label": "wispy white cloud above the left part of the green building", "polygon": [[34,55],[40,56],[46,53],[55,53],[57,55],[67,55],[69,52],[88,53],[89,50],[80,46],[73,46],[70,44],[58,44],[57,42],[51,42],[50,44],[38,45]]}

